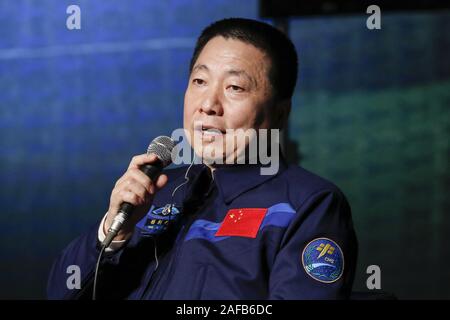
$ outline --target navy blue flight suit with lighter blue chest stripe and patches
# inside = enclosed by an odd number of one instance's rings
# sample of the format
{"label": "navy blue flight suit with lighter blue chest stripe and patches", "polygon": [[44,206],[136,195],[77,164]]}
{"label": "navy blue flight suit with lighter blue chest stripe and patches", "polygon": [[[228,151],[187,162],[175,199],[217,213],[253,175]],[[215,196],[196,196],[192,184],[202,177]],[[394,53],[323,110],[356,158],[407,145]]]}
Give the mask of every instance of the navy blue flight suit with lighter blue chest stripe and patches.
{"label": "navy blue flight suit with lighter blue chest stripe and patches", "polygon": [[[281,162],[275,175],[260,169],[223,166],[211,177],[194,165],[174,196],[186,167],[165,170],[169,182],[148,215],[103,259],[98,298],[348,298],[357,240],[345,196],[298,166]],[[98,227],[55,261],[48,298],[91,298]],[[80,267],[81,289],[67,288],[70,265]]]}

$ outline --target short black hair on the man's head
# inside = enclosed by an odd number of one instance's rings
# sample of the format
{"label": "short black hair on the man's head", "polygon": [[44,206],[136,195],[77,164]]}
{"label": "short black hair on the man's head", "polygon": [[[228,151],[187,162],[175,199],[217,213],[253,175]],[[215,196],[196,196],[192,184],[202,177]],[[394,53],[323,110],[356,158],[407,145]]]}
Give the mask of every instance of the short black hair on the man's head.
{"label": "short black hair on the man's head", "polygon": [[275,101],[291,99],[297,82],[298,58],[292,41],[271,25],[251,19],[228,18],[206,27],[197,39],[189,73],[205,45],[214,37],[222,36],[251,44],[262,50],[271,60],[269,80]]}

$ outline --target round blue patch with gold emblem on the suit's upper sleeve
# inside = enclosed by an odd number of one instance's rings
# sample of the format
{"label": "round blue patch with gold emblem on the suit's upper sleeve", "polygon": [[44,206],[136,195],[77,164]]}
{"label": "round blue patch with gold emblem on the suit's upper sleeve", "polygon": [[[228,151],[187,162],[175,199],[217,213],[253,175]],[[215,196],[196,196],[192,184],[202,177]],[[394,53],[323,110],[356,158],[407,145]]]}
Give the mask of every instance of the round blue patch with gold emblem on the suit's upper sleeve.
{"label": "round blue patch with gold emblem on the suit's upper sleeve", "polygon": [[344,271],[344,254],[339,245],[328,238],[309,242],[302,252],[302,264],[314,280],[332,283],[338,281]]}

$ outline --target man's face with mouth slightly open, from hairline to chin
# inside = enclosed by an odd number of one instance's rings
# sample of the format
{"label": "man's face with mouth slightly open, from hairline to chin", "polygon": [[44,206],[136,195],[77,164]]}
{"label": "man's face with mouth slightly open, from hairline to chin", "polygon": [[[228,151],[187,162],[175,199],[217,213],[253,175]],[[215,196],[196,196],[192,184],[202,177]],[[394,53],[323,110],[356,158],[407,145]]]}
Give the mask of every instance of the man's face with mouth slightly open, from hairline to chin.
{"label": "man's face with mouth slightly open, from hairline to chin", "polygon": [[213,148],[215,159],[236,159],[242,150],[226,150],[235,141],[227,129],[269,128],[269,68],[270,59],[242,41],[215,37],[205,45],[184,97],[184,129],[197,156]]}

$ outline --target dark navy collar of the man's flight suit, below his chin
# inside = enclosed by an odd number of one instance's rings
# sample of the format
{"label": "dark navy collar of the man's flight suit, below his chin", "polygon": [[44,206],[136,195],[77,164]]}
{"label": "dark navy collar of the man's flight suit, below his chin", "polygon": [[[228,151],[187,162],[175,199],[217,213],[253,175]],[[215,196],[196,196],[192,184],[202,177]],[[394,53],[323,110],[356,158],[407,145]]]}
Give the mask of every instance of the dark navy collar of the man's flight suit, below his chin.
{"label": "dark navy collar of the man's flight suit, below his chin", "polygon": [[[223,201],[229,204],[244,192],[273,179],[286,169],[286,162],[280,157],[278,172],[273,175],[262,175],[261,164],[226,165],[213,171],[213,183],[217,186]],[[192,181],[196,181],[209,168],[204,165],[193,166],[189,172]],[[195,184],[195,183],[194,183]]]}

